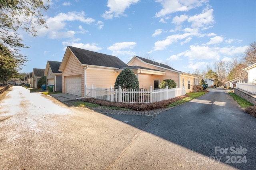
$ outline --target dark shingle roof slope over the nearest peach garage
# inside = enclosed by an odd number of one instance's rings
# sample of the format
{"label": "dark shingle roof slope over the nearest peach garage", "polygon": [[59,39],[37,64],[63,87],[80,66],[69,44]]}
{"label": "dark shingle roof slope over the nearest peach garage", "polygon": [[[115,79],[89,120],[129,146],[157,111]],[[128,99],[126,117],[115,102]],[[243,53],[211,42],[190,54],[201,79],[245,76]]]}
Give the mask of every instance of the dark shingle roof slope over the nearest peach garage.
{"label": "dark shingle roof slope over the nearest peach garage", "polygon": [[94,51],[89,51],[86,49],[76,48],[68,46],[70,50],[74,53],[74,55],[78,58],[80,63],[86,65],[98,65],[104,67],[128,67],[126,63],[120,60],[116,56],[97,53]]}

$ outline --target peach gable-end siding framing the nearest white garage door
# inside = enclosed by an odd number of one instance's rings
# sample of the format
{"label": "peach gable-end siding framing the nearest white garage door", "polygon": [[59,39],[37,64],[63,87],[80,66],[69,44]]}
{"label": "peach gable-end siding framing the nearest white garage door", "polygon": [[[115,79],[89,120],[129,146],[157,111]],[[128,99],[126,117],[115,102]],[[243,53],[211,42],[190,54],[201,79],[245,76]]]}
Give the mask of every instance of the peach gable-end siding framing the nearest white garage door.
{"label": "peach gable-end siding framing the nearest white garage door", "polygon": [[[72,70],[72,71],[71,71]],[[66,76],[74,76],[74,75],[81,75],[81,89],[82,89],[82,96],[84,96],[84,67],[81,66],[81,63],[76,59],[73,53],[70,53],[68,56],[68,60],[65,64],[65,67],[62,71],[62,93],[66,93],[65,91],[65,78]]]}

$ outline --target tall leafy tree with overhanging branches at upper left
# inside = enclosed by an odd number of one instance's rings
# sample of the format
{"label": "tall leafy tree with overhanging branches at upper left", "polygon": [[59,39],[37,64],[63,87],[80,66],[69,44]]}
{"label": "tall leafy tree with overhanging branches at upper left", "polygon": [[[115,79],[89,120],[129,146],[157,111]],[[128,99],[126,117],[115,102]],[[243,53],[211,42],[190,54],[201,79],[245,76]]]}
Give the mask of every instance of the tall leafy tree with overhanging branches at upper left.
{"label": "tall leafy tree with overhanging branches at upper left", "polygon": [[20,54],[20,48],[28,48],[17,34],[23,29],[37,36],[35,26],[47,28],[41,10],[48,10],[49,0],[1,0],[0,1],[0,83],[8,79],[24,77],[19,73],[28,61]]}

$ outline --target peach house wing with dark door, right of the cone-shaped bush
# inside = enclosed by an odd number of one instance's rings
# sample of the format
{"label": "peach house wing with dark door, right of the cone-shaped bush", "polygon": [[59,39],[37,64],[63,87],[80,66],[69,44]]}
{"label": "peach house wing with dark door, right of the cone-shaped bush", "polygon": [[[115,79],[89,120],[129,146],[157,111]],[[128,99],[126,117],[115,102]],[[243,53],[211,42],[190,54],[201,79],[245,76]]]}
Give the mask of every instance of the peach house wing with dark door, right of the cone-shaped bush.
{"label": "peach house wing with dark door, right of the cone-shaped bush", "polygon": [[[154,89],[158,89],[160,82],[165,79],[174,80],[177,87],[186,87],[186,93],[192,91],[193,85],[198,85],[198,76],[177,71],[154,60],[134,56],[127,65],[138,67],[135,73],[138,77],[140,88],[149,89],[152,86]],[[140,67],[144,69],[140,69]]]}

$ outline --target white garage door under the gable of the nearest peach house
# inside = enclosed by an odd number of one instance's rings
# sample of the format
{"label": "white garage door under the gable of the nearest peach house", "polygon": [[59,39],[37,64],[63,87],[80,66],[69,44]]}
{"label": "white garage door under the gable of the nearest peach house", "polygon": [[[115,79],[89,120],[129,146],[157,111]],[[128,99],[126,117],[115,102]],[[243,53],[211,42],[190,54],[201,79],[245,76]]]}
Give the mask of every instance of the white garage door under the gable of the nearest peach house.
{"label": "white garage door under the gable of the nearest peach house", "polygon": [[66,77],[66,93],[79,97],[82,96],[81,76]]}

